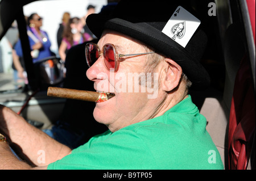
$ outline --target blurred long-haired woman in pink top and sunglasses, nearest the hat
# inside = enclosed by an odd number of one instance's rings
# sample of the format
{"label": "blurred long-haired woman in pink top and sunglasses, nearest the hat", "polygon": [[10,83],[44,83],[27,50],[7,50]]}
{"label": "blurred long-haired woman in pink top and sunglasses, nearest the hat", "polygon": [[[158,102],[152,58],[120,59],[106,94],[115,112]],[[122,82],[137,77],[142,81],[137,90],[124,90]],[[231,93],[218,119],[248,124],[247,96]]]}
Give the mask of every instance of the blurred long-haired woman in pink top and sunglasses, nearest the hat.
{"label": "blurred long-haired woman in pink top and sunglasses, nearest the hat", "polygon": [[90,40],[92,37],[88,33],[82,33],[82,21],[77,17],[69,19],[59,48],[61,60],[65,61],[67,51],[71,47]]}

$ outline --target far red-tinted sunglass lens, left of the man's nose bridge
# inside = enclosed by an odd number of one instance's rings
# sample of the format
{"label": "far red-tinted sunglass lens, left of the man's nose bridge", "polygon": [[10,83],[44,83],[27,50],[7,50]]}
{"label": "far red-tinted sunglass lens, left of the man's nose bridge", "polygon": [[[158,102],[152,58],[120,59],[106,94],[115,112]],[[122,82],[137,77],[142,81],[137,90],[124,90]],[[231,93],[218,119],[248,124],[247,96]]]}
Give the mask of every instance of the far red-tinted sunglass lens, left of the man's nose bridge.
{"label": "far red-tinted sunglass lens, left of the man's nose bridge", "polygon": [[85,57],[88,66],[92,66],[98,60],[99,52],[96,45],[87,44],[85,47]]}

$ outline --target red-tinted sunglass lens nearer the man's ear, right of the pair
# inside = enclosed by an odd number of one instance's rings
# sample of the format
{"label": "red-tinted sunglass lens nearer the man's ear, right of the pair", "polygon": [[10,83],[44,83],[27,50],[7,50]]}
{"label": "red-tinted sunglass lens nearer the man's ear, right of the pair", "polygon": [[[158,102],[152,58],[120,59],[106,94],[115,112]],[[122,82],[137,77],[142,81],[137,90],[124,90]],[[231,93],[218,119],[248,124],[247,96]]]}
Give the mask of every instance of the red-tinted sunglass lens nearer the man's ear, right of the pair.
{"label": "red-tinted sunglass lens nearer the man's ear, right of the pair", "polygon": [[105,45],[103,50],[106,67],[110,69],[115,68],[115,52],[112,45]]}

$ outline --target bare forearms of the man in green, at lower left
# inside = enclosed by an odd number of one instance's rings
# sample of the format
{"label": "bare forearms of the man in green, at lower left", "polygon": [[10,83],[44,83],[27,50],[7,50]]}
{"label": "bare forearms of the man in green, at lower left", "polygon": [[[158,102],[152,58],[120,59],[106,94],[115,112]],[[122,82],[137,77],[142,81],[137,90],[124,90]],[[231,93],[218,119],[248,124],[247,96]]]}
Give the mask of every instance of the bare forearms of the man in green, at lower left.
{"label": "bare forearms of the man in green, at lower left", "polygon": [[[53,138],[49,137],[40,129],[27,123],[23,117],[19,116],[10,108],[0,105],[0,133],[7,137],[11,148],[24,156],[27,163],[30,165],[39,166],[45,169],[49,163],[55,162],[58,159],[65,157],[71,153],[71,149],[67,146],[60,144]],[[5,163],[6,167],[10,169],[31,168],[25,162],[20,162],[15,155],[11,152],[9,145],[6,142],[0,142],[0,163]],[[39,162],[39,151],[43,150],[44,162]],[[20,166],[20,167],[19,167]]]}

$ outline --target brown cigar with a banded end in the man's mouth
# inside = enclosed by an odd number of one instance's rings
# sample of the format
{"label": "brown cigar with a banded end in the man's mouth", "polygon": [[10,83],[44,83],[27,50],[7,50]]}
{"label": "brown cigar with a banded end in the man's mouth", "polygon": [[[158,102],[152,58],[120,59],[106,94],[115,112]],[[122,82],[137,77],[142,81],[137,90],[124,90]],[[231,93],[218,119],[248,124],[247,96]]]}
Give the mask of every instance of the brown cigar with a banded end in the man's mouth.
{"label": "brown cigar with a banded end in the man's mouth", "polygon": [[47,95],[57,98],[76,99],[97,103],[105,102],[114,96],[114,94],[111,93],[75,90],[60,87],[48,87]]}

